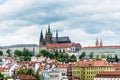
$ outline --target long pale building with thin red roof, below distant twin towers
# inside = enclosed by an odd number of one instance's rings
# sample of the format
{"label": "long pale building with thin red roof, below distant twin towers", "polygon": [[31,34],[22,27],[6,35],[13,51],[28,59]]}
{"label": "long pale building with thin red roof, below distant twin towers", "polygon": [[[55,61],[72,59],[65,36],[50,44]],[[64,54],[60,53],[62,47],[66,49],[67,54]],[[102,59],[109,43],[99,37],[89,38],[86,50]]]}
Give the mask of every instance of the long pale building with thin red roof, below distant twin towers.
{"label": "long pale building with thin red roof, below distant twin towers", "polygon": [[88,46],[83,47],[80,53],[82,52],[85,52],[86,55],[93,53],[94,57],[96,57],[96,55],[99,55],[100,57],[102,55],[111,55],[112,57],[118,55],[120,58],[120,46]]}

